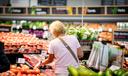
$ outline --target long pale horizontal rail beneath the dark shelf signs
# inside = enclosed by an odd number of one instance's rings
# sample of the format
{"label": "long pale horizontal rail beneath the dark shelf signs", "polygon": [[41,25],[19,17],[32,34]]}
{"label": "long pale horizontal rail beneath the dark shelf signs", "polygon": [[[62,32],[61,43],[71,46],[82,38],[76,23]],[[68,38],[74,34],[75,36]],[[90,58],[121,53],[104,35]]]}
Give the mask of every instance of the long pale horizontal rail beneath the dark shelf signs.
{"label": "long pale horizontal rail beneath the dark shelf signs", "polygon": [[[44,21],[81,21],[81,16],[62,16],[62,15],[1,15],[0,20],[44,20]],[[84,21],[89,22],[125,22],[128,21],[128,16],[84,16]]]}

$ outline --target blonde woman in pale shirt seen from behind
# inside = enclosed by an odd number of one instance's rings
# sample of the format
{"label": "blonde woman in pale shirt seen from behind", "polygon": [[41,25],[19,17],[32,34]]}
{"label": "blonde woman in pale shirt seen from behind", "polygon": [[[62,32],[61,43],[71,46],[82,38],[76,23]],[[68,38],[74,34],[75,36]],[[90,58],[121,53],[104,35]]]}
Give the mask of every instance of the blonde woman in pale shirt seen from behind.
{"label": "blonde woman in pale shirt seen from behind", "polygon": [[49,56],[44,62],[42,62],[42,65],[51,63],[55,60],[56,76],[68,76],[67,67],[69,65],[78,67],[79,63],[75,61],[71,53],[59,38],[62,38],[70,46],[74,54],[77,56],[77,59],[78,57],[83,57],[80,44],[75,36],[65,35],[64,24],[60,21],[54,21],[51,23],[49,29],[55,39],[50,42],[48,49]]}

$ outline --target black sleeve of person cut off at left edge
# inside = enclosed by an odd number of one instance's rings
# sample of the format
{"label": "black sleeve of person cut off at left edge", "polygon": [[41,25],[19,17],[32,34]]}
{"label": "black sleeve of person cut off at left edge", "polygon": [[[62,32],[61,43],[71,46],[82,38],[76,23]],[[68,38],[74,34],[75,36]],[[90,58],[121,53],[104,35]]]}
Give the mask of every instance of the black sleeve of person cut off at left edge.
{"label": "black sleeve of person cut off at left edge", "polygon": [[4,43],[0,42],[0,73],[10,69],[10,62],[4,53]]}

